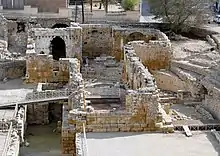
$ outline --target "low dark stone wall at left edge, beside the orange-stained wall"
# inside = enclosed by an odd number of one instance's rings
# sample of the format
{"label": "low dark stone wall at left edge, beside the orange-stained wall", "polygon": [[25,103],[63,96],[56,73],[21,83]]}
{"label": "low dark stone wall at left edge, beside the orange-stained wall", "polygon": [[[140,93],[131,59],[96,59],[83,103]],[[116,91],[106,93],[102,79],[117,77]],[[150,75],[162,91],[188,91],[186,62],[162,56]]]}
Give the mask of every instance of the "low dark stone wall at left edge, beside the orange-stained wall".
{"label": "low dark stone wall at left edge, beside the orange-stained wall", "polygon": [[0,80],[21,78],[25,75],[25,68],[26,62],[24,60],[0,62]]}

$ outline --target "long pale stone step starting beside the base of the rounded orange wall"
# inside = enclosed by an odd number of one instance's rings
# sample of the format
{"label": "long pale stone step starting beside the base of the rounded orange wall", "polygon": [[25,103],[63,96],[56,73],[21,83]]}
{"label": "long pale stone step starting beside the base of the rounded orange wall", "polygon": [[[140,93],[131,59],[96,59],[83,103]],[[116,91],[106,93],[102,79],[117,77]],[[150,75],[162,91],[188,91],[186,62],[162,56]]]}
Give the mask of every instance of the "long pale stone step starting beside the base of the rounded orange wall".
{"label": "long pale stone step starting beside the base of the rounded orange wall", "polygon": [[209,67],[204,67],[196,64],[192,64],[189,61],[171,61],[171,66],[179,67],[194,73],[197,73],[199,75],[207,75],[211,71],[209,70]]}

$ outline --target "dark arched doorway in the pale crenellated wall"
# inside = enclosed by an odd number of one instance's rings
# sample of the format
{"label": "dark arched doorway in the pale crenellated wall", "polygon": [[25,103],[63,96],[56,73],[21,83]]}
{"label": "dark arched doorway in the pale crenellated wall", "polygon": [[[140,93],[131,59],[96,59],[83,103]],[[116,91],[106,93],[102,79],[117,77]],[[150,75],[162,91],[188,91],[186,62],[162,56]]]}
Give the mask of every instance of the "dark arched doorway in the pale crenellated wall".
{"label": "dark arched doorway in the pale crenellated wall", "polygon": [[60,58],[66,57],[66,44],[62,38],[56,36],[51,41],[51,54],[53,55],[53,59],[59,61]]}

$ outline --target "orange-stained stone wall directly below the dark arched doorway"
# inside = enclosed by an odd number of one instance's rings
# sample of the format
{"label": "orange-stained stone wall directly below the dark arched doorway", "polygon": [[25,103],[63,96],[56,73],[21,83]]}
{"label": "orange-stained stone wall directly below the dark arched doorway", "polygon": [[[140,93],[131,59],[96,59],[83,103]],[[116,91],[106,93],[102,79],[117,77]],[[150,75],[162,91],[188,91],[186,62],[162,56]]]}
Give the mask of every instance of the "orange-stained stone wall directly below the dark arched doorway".
{"label": "orange-stained stone wall directly below the dark arched doorway", "polygon": [[[57,67],[56,70],[54,70]],[[60,60],[54,62],[51,56],[46,54],[28,55],[26,82],[68,82],[69,61]]]}

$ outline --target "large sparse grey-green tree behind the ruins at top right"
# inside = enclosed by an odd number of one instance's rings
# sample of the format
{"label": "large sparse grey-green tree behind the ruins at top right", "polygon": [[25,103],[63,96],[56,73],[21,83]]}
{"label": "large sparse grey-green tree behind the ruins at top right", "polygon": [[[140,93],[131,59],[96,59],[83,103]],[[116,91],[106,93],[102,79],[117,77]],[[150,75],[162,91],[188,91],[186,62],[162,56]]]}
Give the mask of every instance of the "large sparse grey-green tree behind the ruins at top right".
{"label": "large sparse grey-green tree behind the ruins at top right", "polygon": [[204,24],[210,16],[211,0],[148,0],[155,18],[167,22],[173,32]]}

